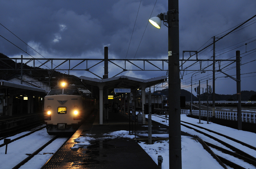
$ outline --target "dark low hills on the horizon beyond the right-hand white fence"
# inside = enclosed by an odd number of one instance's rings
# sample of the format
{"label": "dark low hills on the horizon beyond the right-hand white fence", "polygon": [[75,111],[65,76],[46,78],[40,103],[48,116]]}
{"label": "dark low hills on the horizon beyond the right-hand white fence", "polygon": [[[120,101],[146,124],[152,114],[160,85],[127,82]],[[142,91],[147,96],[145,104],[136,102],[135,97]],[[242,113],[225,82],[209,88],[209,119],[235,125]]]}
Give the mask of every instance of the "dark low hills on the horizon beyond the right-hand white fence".
{"label": "dark low hills on the horizon beyond the right-hand white fence", "polygon": [[[160,93],[168,96],[169,95],[169,89],[163,89],[160,91]],[[255,95],[256,92],[255,91],[241,91],[241,100],[245,101],[245,100],[249,100],[250,97],[252,95]],[[187,90],[184,90],[184,89],[181,89],[181,96],[185,96],[186,97],[186,101],[191,101],[191,92],[187,91]],[[192,94],[192,101],[197,101],[198,98],[196,96],[194,96]],[[206,97],[206,93],[204,93],[202,95],[202,100],[207,100],[207,97]],[[212,96],[210,96],[209,100],[212,100]],[[215,101],[220,101],[220,100],[229,100],[229,101],[232,101],[232,100],[237,100],[237,94],[215,94]]]}

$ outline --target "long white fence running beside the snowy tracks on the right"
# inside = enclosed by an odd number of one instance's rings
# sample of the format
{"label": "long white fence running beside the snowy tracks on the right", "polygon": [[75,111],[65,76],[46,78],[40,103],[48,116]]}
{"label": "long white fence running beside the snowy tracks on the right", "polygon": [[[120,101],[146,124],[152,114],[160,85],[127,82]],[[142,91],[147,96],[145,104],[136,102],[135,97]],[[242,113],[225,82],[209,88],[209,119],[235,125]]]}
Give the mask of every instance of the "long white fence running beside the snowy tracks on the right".
{"label": "long white fence running beside the snowy tracks on the right", "polygon": [[[181,110],[181,114],[190,114],[190,110]],[[242,122],[256,123],[256,113],[241,113]],[[199,110],[192,110],[192,115],[199,116]],[[201,116],[207,117],[207,110],[201,110]],[[212,117],[212,111],[209,110],[209,117]],[[237,121],[237,112],[215,111],[215,117],[227,120]]]}

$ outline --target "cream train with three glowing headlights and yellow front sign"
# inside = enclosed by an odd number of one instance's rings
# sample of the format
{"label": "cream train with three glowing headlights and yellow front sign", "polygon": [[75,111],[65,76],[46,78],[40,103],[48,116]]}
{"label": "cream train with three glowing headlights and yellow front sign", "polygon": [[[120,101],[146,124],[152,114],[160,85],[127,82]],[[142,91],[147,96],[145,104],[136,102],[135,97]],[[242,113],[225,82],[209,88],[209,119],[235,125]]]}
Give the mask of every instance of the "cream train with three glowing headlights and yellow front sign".
{"label": "cream train with three glowing headlights and yellow front sign", "polygon": [[76,87],[53,87],[44,97],[44,121],[49,135],[73,134],[91,112],[93,99],[85,97]]}

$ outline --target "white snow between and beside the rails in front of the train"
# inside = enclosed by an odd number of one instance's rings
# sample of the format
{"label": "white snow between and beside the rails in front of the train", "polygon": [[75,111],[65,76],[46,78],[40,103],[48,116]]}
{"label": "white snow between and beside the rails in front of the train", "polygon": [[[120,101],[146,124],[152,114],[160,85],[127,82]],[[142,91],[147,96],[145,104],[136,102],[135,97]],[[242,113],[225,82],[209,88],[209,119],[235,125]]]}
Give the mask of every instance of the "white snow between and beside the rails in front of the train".
{"label": "white snow between and beside the rails in front of the train", "polygon": [[[28,132],[22,132],[17,134],[18,136],[24,135]],[[17,135],[9,137],[14,139],[18,137]],[[51,140],[54,136],[48,135],[46,129],[36,131],[26,137],[18,139],[10,144],[7,147],[7,154],[5,154],[5,146],[0,147],[0,168],[1,169],[11,169],[17,164],[22,162],[25,158],[28,157],[26,154],[32,154],[34,151],[42,147],[45,143]],[[67,140],[67,138],[59,138],[54,140],[53,144],[45,147],[38,155],[35,155],[32,158],[32,161],[26,163],[24,166],[21,166],[20,169],[40,169],[53,154],[43,154],[43,153],[53,153],[59,149],[59,147]],[[3,140],[1,140],[1,143]]]}

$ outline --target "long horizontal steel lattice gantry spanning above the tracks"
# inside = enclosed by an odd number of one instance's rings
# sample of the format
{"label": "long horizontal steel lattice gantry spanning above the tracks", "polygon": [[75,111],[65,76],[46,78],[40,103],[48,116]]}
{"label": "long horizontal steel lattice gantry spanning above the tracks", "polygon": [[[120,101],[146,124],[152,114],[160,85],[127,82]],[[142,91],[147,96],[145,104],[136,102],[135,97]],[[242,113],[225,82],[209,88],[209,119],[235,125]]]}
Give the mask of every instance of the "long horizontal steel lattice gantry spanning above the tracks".
{"label": "long horizontal steel lattice gantry spanning above the tracks", "polygon": [[[186,51],[184,51],[186,52]],[[196,51],[195,51],[196,52]],[[15,65],[12,66],[10,63],[8,64],[8,60],[13,60]],[[120,68],[120,72],[114,75],[113,77],[126,72],[126,71],[167,71],[168,70],[168,59],[106,59],[110,65]],[[31,70],[24,68],[24,65],[30,65],[32,70],[55,70],[55,71],[87,71],[91,74],[102,79],[100,75],[97,75],[93,72],[94,68],[97,68],[97,65],[100,63],[104,63],[105,59],[71,59],[71,58],[0,58],[0,63],[3,66],[0,67],[0,70]],[[194,61],[193,64],[199,63],[200,68],[193,70],[189,69],[188,66],[183,68],[183,65],[187,61]],[[206,67],[202,67],[202,62],[212,62],[210,65]],[[218,59],[214,60],[215,63],[218,63],[218,70],[221,71],[221,62],[222,61],[231,61],[230,64],[236,62],[237,60],[224,60]],[[23,63],[24,62],[24,63]],[[181,78],[184,76],[185,71],[213,71],[210,67],[213,65],[213,60],[210,59],[180,59],[180,75]],[[23,63],[18,64],[18,63]],[[226,65],[225,67],[229,66]],[[109,65],[109,67],[110,67]],[[122,67],[123,66],[123,67]],[[224,67],[224,68],[225,68]],[[132,68],[132,69],[131,69]],[[209,68],[209,70],[207,70]],[[223,68],[222,68],[223,69]]]}

